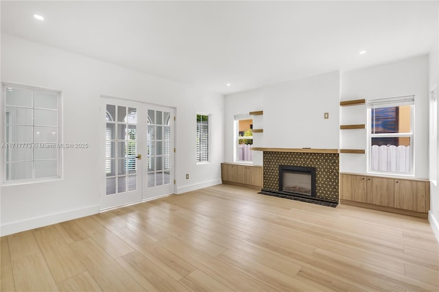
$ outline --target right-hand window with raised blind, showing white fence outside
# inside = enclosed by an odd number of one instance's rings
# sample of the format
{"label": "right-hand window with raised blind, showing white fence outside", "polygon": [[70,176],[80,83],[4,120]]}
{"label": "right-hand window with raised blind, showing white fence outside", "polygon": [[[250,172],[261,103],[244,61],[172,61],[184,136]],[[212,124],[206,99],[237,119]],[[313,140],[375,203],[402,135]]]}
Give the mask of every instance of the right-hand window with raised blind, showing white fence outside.
{"label": "right-hand window with raised blind, showing white fence outside", "polygon": [[369,170],[412,173],[414,97],[368,102]]}

